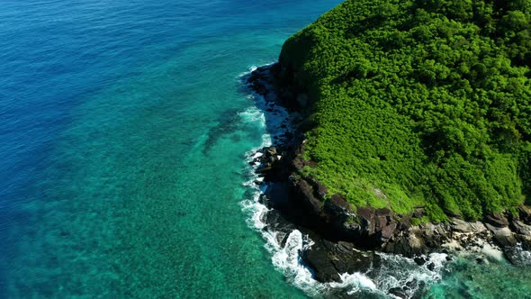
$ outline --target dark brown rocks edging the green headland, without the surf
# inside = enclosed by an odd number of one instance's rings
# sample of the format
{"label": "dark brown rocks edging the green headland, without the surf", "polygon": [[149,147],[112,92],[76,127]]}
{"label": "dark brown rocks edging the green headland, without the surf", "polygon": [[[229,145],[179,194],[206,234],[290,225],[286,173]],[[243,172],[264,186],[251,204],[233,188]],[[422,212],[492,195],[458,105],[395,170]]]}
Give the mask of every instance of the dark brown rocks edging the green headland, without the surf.
{"label": "dark brown rocks edging the green headland, without the surf", "polygon": [[[293,229],[314,240],[301,256],[316,280],[340,281],[342,273],[377,267],[380,260],[374,251],[401,254],[424,265],[432,252],[482,252],[498,247],[513,264],[521,263],[517,249],[531,249],[531,209],[525,206],[518,209],[518,215],[493,214],[485,222],[465,222],[455,215],[447,223],[413,225],[413,219],[425,214],[421,206],[405,215],[385,208],[354,210],[342,195],[328,195],[319,181],[302,177],[302,168],[315,166],[302,159],[303,131],[309,125],[304,115],[310,100],[293,81],[293,74],[278,63],[257,68],[247,77],[247,86],[266,99],[266,109],[273,112],[280,105],[293,116],[293,123],[283,123],[286,130],[275,136],[274,146],[259,149],[250,163],[263,177],[256,184],[268,186],[261,201],[272,209],[266,216],[267,225],[284,231],[278,234],[279,242],[283,244]],[[385,196],[380,190],[374,192]],[[417,282],[409,284],[413,287]],[[402,297],[404,290],[395,291],[394,295]]]}

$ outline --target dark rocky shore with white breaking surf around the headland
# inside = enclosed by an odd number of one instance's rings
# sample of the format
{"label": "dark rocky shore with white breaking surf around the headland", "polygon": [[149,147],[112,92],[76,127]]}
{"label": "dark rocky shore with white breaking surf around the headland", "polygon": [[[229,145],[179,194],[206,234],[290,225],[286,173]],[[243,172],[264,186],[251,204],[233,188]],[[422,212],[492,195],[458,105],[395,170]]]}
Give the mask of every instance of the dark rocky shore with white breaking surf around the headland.
{"label": "dark rocky shore with white breaking surf around the headland", "polygon": [[[426,283],[440,279],[445,263],[458,254],[471,254],[478,262],[503,256],[516,265],[525,262],[521,257],[527,254],[523,249],[529,248],[531,226],[520,219],[499,215],[486,223],[454,218],[448,223],[412,225],[411,217],[419,215],[397,215],[389,209],[353,211],[341,195],[331,195],[323,203],[325,186],[293,176],[312,163],[301,158],[303,134],[294,129],[303,125],[307,96],[286,90],[289,86],[275,86],[279,77],[286,76],[278,75],[280,69],[278,63],[270,64],[243,77],[259,102],[257,107],[266,113],[267,131],[272,134],[269,144],[249,155],[249,164],[257,173],[251,182],[259,191],[255,202],[262,205],[253,215],[252,226],[268,240],[276,267],[299,272],[293,278],[295,285],[307,293],[342,290],[336,294],[341,296],[365,289],[410,298],[422,293]],[[347,222],[348,217],[357,221]],[[289,258],[275,263],[279,252]],[[412,263],[417,267],[412,271],[422,275],[409,275],[415,278],[397,279],[400,283],[382,288],[375,273],[392,258]],[[346,293],[346,289],[351,291]]]}

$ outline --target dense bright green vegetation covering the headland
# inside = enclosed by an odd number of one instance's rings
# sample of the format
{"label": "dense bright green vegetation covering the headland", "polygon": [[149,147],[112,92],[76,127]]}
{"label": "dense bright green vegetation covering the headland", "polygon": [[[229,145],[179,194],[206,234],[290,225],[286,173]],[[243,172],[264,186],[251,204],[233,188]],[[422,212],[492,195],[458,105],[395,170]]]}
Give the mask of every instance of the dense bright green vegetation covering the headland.
{"label": "dense bright green vegetation covering the headland", "polygon": [[347,0],[284,44],[312,104],[306,168],[432,221],[531,195],[531,0]]}

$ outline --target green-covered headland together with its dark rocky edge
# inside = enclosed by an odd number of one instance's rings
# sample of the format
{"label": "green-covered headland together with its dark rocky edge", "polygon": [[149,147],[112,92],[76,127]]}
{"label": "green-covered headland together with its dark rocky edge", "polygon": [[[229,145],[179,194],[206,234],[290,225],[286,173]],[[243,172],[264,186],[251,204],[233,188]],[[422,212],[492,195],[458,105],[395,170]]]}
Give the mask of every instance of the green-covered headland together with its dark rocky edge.
{"label": "green-covered headland together with its dark rocky edge", "polygon": [[342,242],[531,249],[530,22],[527,0],[347,0],[248,78],[294,115],[257,171],[327,240],[303,254],[318,280],[363,266],[326,261]]}

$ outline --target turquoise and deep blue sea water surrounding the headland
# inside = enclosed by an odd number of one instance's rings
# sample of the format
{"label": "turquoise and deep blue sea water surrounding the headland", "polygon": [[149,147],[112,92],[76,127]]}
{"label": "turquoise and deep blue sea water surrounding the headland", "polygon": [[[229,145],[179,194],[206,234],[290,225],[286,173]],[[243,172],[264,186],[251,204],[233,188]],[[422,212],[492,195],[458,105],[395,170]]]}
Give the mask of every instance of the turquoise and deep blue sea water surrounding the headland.
{"label": "turquoise and deep blue sea water surrounding the headland", "polygon": [[[240,77],[340,2],[3,0],[0,298],[320,295],[243,204],[267,130]],[[531,292],[504,261],[434,277],[434,298]]]}

